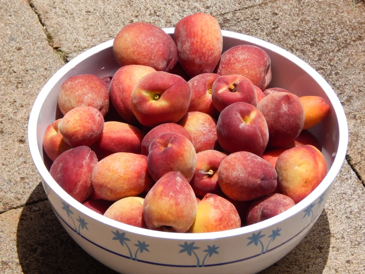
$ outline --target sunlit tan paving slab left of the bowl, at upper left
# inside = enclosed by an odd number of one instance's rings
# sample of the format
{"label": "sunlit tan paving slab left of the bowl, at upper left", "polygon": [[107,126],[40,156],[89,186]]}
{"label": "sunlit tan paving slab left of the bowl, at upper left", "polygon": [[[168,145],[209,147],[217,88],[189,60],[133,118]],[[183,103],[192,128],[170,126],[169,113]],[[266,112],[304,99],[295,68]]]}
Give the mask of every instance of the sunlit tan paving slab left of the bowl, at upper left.
{"label": "sunlit tan paving slab left of the bowl, at upper left", "polygon": [[63,65],[27,0],[0,0],[0,212],[45,199],[28,149],[28,118],[42,86]]}

